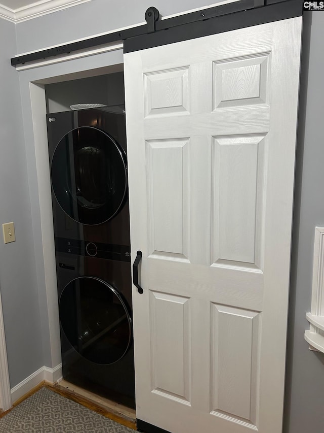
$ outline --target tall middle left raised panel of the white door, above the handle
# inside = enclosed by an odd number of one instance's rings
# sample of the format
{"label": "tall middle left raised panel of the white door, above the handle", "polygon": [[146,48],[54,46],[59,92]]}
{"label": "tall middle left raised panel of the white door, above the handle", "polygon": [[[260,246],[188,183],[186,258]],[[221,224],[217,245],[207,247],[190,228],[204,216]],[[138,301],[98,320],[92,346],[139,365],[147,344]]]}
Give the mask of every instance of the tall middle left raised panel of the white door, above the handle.
{"label": "tall middle left raised panel of the white door, above the handle", "polygon": [[150,254],[189,259],[188,139],[146,142]]}

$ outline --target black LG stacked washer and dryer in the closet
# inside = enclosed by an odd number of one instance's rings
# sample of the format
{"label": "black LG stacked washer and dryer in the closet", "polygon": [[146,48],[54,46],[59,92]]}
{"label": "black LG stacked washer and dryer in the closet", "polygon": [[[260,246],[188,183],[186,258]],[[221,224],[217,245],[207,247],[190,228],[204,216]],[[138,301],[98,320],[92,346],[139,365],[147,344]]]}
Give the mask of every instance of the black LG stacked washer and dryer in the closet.
{"label": "black LG stacked washer and dryer in the closet", "polygon": [[125,110],[47,125],[63,378],[135,407]]}

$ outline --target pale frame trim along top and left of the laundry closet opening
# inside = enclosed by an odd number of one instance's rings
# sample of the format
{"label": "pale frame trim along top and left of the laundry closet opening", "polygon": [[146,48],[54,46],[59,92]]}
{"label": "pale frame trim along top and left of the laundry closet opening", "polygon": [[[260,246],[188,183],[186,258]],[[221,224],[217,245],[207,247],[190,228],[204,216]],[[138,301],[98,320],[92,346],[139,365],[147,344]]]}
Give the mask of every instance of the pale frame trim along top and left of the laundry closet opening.
{"label": "pale frame trim along top and left of the laundry closet opening", "polygon": [[[30,189],[32,220],[34,231],[38,233],[38,237],[34,238],[37,283],[39,290],[42,290],[43,306],[48,317],[48,322],[43,323],[46,328],[48,327],[46,332],[49,336],[48,350],[50,350],[48,354],[50,361],[48,361],[46,369],[55,370],[60,365],[61,344],[47,146],[45,85],[123,70],[123,66],[120,65],[123,61],[123,51],[118,47],[111,48],[111,52],[76,58],[70,62],[65,62],[64,66],[62,63],[49,64],[41,68],[22,71],[19,74],[28,179],[30,188],[32,188]],[[47,370],[45,371],[47,372]],[[29,380],[28,377],[22,381],[24,393],[34,386],[33,375],[31,375],[32,380]],[[20,389],[20,384],[17,386]],[[16,387],[11,390],[12,392],[15,391],[15,395],[17,394]]]}

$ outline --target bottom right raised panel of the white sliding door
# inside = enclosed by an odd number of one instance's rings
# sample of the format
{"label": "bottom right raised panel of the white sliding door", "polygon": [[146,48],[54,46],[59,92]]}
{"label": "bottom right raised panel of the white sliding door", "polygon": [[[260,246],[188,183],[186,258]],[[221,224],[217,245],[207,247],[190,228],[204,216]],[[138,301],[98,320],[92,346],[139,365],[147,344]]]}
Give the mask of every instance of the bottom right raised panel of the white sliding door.
{"label": "bottom right raised panel of the white sliding door", "polygon": [[212,413],[255,425],[261,313],[212,304]]}

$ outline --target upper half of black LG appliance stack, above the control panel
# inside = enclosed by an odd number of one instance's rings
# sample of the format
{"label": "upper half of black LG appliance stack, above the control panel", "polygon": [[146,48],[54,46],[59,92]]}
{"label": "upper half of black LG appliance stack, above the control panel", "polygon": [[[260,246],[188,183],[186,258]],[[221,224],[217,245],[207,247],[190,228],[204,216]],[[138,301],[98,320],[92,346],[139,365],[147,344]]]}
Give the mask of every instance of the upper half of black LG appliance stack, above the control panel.
{"label": "upper half of black LG appliance stack, above the control panel", "polygon": [[56,243],[129,246],[123,107],[48,114],[47,127]]}

